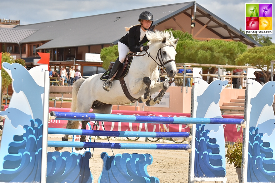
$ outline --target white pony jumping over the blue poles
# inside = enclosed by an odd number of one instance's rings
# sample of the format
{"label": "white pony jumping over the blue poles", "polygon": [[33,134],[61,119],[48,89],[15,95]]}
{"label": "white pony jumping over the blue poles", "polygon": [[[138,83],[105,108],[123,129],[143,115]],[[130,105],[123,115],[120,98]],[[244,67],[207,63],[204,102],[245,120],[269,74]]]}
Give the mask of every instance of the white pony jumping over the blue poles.
{"label": "white pony jumping over the blue poles", "polygon": [[[175,39],[172,32],[147,32],[148,53],[142,57],[134,57],[128,74],[124,77],[128,92],[139,102],[146,102],[147,106],[160,103],[163,95],[169,87],[167,81],[157,82],[159,78],[158,66],[162,67],[167,76],[174,78],[177,68],[175,63],[176,46],[178,38]],[[144,54],[140,52],[138,54]],[[148,54],[150,56],[148,56]],[[72,112],[87,113],[93,109],[93,113],[111,114],[113,105],[123,105],[133,102],[125,96],[119,80],[114,80],[112,89],[107,92],[102,88],[100,80],[102,74],[95,74],[87,79],[78,79],[73,84]],[[157,97],[151,98],[150,94],[161,90]],[[87,121],[82,121],[82,129],[86,129]],[[77,129],[79,121],[68,121],[67,128]],[[81,136],[80,141],[85,141],[86,136]],[[68,141],[68,135],[62,138]],[[62,147],[55,147],[59,151]],[[81,150],[82,148],[76,148]]]}

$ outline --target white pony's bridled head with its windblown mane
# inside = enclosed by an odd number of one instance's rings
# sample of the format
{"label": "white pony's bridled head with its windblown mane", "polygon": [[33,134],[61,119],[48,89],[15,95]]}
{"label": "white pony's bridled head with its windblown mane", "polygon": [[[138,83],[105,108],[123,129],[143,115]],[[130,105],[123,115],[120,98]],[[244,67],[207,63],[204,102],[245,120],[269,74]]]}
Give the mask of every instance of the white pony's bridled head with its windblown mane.
{"label": "white pony's bridled head with its windblown mane", "polygon": [[[174,78],[178,72],[175,62],[178,38],[175,39],[171,31],[164,32],[158,30],[155,32],[147,32],[146,37],[150,41],[148,45],[152,48],[156,47],[155,52],[158,50],[156,62],[159,62],[158,64],[165,70],[168,77]],[[150,49],[148,52],[150,52]]]}

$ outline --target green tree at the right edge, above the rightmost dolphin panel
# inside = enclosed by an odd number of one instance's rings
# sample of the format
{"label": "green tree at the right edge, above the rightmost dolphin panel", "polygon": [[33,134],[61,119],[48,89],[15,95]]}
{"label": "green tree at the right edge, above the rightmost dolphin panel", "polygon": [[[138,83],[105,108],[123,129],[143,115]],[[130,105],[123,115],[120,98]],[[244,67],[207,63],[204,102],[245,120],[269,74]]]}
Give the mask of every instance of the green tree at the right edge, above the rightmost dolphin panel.
{"label": "green tree at the right edge, above the rightmost dolphin panel", "polygon": [[248,64],[261,69],[264,83],[266,83],[270,79],[271,60],[275,60],[275,45],[250,48],[237,57],[236,63],[239,65]]}

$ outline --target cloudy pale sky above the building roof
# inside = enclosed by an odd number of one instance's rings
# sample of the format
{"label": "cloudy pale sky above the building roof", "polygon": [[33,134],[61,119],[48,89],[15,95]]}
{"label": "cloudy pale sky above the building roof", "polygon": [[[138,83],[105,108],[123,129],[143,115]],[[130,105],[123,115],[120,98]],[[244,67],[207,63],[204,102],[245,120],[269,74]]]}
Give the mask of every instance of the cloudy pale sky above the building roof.
{"label": "cloudy pale sky above the building roof", "polygon": [[[273,0],[196,0],[238,30],[245,30],[245,3],[272,3]],[[0,19],[20,20],[20,25],[85,17],[131,9],[161,6],[188,0],[0,0]],[[273,9],[274,10],[274,9]],[[274,17],[274,16],[273,16]],[[272,24],[273,26],[273,24]],[[274,30],[272,28],[272,30]],[[267,36],[267,34],[263,34]],[[275,43],[275,33],[268,34]]]}

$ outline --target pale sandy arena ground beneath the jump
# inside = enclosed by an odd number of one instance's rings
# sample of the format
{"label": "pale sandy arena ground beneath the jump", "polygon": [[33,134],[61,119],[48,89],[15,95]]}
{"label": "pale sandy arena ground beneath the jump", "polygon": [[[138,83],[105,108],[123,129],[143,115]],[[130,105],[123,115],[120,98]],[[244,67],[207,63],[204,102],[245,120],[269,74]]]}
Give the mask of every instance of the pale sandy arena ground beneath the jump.
{"label": "pale sandy arena ground beneath the jump", "polygon": [[[60,141],[63,135],[49,134],[48,140]],[[70,137],[69,137],[70,138]],[[72,139],[69,139],[72,141]],[[94,141],[94,140],[92,140]],[[96,142],[108,142],[107,139],[97,139]],[[114,143],[133,143],[123,137],[112,137],[110,142]],[[145,138],[140,138],[136,143],[153,143],[145,142]],[[160,139],[156,143],[174,143],[172,141]],[[54,151],[53,147],[48,147],[48,151]],[[63,148],[62,151],[72,151],[72,148]],[[93,152],[93,149],[91,149]],[[188,182],[188,159],[189,153],[183,150],[139,150],[139,149],[94,149],[93,157],[90,158],[90,169],[94,178],[94,182],[98,182],[101,174],[103,161],[100,158],[102,152],[107,152],[109,156],[123,153],[149,153],[153,156],[153,163],[147,166],[149,176],[158,177],[161,183],[187,183]],[[234,166],[226,163],[227,183],[238,182],[238,176]],[[215,182],[211,182],[215,183]]]}

